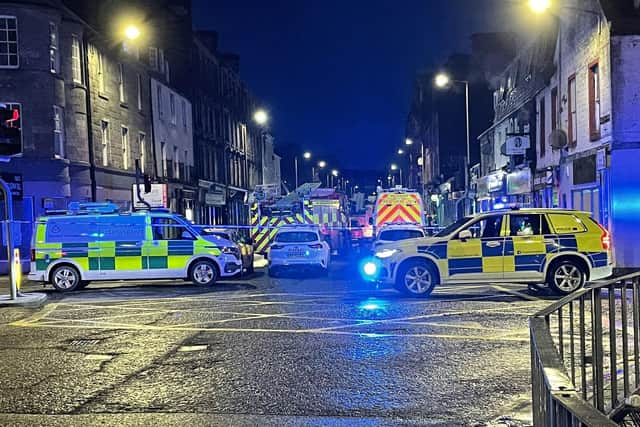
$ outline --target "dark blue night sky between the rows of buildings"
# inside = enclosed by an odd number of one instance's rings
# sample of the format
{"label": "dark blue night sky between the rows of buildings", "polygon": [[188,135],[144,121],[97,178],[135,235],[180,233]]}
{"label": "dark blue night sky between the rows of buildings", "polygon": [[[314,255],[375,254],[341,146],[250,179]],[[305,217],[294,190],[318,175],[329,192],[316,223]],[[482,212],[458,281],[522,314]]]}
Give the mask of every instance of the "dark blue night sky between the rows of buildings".
{"label": "dark blue night sky between the rows of buildings", "polygon": [[508,27],[508,0],[193,0],[269,109],[277,141],[382,168],[404,137],[416,71]]}

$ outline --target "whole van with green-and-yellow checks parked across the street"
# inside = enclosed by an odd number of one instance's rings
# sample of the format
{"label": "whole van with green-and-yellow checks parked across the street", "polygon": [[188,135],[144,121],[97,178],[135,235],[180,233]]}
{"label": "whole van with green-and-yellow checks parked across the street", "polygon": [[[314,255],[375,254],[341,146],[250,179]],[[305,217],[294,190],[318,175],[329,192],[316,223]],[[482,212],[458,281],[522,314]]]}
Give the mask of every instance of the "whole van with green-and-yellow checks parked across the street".
{"label": "whole van with green-and-yellow checks parked across the street", "polygon": [[29,280],[59,291],[96,280],[190,279],[213,285],[242,269],[238,247],[201,236],[166,210],[118,212],[111,203],[72,203],[38,218]]}

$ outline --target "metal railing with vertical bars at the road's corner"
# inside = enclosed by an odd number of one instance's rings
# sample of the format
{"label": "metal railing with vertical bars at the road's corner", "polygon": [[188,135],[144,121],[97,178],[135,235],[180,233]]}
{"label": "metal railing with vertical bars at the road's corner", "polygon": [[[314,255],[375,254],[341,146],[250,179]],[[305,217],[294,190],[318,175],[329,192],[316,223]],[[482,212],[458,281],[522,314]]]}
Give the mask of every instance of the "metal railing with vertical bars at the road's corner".
{"label": "metal railing with vertical bars at the road's corner", "polygon": [[534,426],[640,426],[640,272],[530,319]]}

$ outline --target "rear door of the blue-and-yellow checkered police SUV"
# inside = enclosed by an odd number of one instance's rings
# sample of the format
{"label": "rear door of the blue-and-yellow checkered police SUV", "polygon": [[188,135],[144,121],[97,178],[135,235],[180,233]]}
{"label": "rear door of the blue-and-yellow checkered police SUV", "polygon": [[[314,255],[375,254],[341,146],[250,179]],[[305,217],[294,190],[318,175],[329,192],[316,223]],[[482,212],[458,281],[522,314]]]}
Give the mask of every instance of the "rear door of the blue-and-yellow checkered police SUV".
{"label": "rear door of the blue-and-yellow checkered police SUV", "polygon": [[547,245],[555,242],[546,216],[534,213],[510,214],[508,231],[504,254],[505,279],[542,280]]}

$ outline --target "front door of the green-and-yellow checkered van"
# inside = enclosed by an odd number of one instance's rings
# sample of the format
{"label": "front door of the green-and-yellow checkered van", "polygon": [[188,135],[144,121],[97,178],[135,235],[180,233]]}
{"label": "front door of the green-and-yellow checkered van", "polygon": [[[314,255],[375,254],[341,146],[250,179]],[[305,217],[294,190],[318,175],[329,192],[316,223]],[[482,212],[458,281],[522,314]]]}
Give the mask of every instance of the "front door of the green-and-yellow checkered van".
{"label": "front door of the green-and-yellow checkered van", "polygon": [[151,217],[151,240],[145,241],[146,265],[150,277],[184,276],[193,256],[196,236],[171,217]]}

